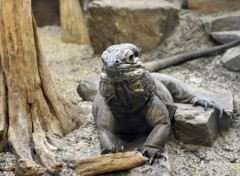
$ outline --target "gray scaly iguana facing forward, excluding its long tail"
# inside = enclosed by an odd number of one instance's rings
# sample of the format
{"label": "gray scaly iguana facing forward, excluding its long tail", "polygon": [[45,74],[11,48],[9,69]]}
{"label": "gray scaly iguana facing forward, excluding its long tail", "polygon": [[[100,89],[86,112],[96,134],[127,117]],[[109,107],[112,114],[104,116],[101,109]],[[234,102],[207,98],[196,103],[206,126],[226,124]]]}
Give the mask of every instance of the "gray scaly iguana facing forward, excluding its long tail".
{"label": "gray scaly iguana facing forward, excluding its long tail", "polygon": [[113,45],[102,54],[99,93],[93,103],[102,153],[122,151],[119,136],[148,134],[141,150],[152,164],[161,157],[167,142],[173,102],[192,103],[205,108],[218,107],[213,101],[194,93],[181,81],[148,72],[133,44]]}

